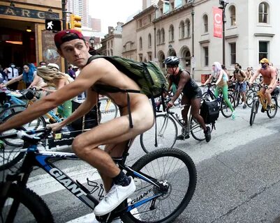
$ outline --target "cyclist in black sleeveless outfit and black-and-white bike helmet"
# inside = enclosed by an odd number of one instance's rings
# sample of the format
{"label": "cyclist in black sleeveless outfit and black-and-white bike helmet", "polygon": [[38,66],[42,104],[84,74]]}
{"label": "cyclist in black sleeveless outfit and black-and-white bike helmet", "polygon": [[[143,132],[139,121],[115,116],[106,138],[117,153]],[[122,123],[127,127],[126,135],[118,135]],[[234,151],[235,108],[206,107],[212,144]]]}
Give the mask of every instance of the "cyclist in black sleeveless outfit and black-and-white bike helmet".
{"label": "cyclist in black sleeveless outfit and black-and-white bike helmet", "polygon": [[[184,109],[182,109],[182,118],[184,120],[184,125],[187,125],[188,123],[188,112],[189,108],[191,107],[191,115],[193,116],[193,118],[196,118],[196,120],[202,126],[205,133],[206,141],[210,141],[211,130],[205,125],[202,116],[200,116],[199,114],[202,92],[198,84],[196,84],[196,82],[191,79],[191,75],[188,71],[179,68],[179,59],[176,56],[168,56],[168,58],[165,59],[164,63],[169,74],[168,91],[170,91],[172,84],[175,84],[177,86],[177,91],[168,102],[167,107],[172,107],[175,100],[177,100],[177,98],[179,98],[179,95],[183,93],[181,105],[186,105]],[[186,138],[189,138],[189,135],[181,134],[177,137],[177,139],[179,140],[184,140]]]}

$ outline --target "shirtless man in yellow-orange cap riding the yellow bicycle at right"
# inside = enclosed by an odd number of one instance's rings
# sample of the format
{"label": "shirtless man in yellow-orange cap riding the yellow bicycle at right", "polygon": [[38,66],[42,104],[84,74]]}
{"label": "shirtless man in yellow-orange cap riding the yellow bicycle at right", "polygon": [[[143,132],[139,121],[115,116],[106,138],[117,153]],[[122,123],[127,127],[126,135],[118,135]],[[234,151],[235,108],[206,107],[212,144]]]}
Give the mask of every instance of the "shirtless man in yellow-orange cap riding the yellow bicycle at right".
{"label": "shirtless man in yellow-orange cap riding the yellow bicycle at right", "polygon": [[271,109],[271,93],[277,86],[277,71],[274,67],[269,66],[269,64],[270,61],[268,61],[268,59],[261,59],[261,67],[256,70],[255,74],[249,81],[249,84],[251,85],[253,81],[258,77],[258,75],[261,74],[263,76],[263,84],[268,86],[267,89],[265,89],[265,87],[261,88],[260,92],[263,93],[263,95],[265,95],[265,98],[267,99],[267,110]]}

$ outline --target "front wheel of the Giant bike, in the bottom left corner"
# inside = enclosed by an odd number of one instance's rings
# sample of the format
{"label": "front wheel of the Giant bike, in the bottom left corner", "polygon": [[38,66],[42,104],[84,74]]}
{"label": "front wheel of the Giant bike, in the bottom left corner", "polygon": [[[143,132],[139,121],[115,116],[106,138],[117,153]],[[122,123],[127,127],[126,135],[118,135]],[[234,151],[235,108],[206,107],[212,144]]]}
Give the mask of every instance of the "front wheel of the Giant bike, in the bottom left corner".
{"label": "front wheel of the Giant bike, in the bottom left corner", "polygon": [[[3,183],[1,183],[0,188],[3,188]],[[13,199],[13,205],[10,205],[11,199]],[[16,203],[19,205],[17,208],[15,207]],[[11,184],[7,197],[0,198],[0,204],[1,217],[7,217],[7,219],[3,218],[4,221],[2,222],[54,222],[52,213],[45,201],[27,187],[20,187],[15,183]],[[8,215],[5,215],[10,207],[16,208],[15,216],[13,210],[9,210]],[[32,221],[30,217],[32,217]]]}

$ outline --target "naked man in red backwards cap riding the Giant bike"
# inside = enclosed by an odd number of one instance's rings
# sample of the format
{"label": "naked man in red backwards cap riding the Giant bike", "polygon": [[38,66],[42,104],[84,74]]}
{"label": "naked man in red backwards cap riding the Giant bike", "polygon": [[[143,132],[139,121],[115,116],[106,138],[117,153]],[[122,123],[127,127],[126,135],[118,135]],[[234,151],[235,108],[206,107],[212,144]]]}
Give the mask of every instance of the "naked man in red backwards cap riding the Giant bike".
{"label": "naked man in red backwards cap riding the Giant bike", "polygon": [[[87,91],[86,100],[71,116],[61,123],[51,125],[55,132],[87,114],[96,105],[98,93],[93,90],[96,85],[140,90],[138,84],[117,70],[109,61],[95,59],[91,63],[87,63],[91,55],[89,54],[89,45],[84,40],[82,33],[75,30],[59,31],[54,36],[54,42],[57,46],[57,52],[69,63],[81,69],[80,75],[71,84],[67,84],[58,91],[38,100],[24,112],[1,124],[0,132],[29,123],[66,100],[71,100],[71,98]],[[128,93],[133,121],[133,128],[130,128],[127,93],[102,93],[119,106],[121,116],[80,134],[75,137],[72,144],[73,151],[80,159],[98,169],[105,190],[108,192],[94,209],[94,214],[97,216],[110,213],[135,191],[133,178],[126,176],[111,157],[121,157],[129,139],[133,139],[154,125],[153,109],[146,95]],[[106,145],[105,151],[99,148],[101,145]]]}

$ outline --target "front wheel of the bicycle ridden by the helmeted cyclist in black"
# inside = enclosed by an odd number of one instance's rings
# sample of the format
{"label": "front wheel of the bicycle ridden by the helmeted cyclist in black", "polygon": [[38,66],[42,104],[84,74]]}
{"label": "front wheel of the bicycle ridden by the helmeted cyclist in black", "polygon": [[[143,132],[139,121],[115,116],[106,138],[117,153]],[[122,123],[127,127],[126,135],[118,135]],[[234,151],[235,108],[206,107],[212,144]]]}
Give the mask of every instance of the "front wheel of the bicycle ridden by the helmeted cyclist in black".
{"label": "front wheel of the bicycle ridden by the helmeted cyclist in black", "polygon": [[[155,128],[157,130],[157,146],[155,146]],[[152,152],[157,148],[172,148],[176,142],[177,133],[175,120],[166,114],[158,114],[156,115],[156,125],[140,134],[141,147],[145,153]]]}

